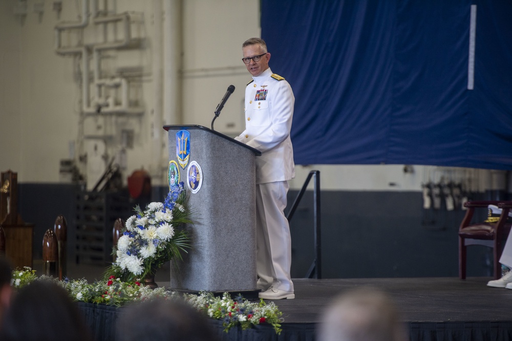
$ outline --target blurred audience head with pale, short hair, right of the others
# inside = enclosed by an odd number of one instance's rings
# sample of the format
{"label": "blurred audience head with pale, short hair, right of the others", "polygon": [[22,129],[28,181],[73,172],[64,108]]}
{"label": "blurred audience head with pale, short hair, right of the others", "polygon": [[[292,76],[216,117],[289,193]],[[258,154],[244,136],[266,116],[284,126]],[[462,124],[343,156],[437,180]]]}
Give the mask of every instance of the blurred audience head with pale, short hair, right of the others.
{"label": "blurred audience head with pale, short hair, right of the others", "polygon": [[405,341],[406,336],[393,301],[371,288],[337,297],[318,330],[319,341]]}

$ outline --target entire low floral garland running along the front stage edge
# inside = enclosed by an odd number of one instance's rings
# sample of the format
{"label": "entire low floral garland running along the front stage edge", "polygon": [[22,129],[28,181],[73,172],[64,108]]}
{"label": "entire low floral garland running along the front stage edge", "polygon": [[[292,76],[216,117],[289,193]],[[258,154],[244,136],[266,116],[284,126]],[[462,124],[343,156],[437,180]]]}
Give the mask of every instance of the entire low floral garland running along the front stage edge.
{"label": "entire low floral garland running along the front stage edge", "polygon": [[236,326],[240,326],[242,330],[245,330],[265,323],[271,325],[277,334],[280,334],[282,330],[281,323],[283,318],[281,316],[283,313],[273,302],[268,304],[263,300],[250,302],[243,299],[242,296],[237,296],[233,300],[228,293],[224,293],[222,297],[206,292],[201,292],[199,295],[181,295],[177,292],[168,291],[164,287],[153,290],[138,281],[123,282],[120,278],[114,277],[96,281],[92,284],[88,283],[85,279],[59,281],[45,275],[37,277],[35,270],[29,267],[14,269],[11,285],[19,289],[25,285],[30,285],[33,281],[45,280],[54,281],[66,289],[71,299],[75,302],[123,307],[133,302],[145,300],[184,299],[185,302],[198,311],[203,312],[209,318],[222,321],[225,332]]}

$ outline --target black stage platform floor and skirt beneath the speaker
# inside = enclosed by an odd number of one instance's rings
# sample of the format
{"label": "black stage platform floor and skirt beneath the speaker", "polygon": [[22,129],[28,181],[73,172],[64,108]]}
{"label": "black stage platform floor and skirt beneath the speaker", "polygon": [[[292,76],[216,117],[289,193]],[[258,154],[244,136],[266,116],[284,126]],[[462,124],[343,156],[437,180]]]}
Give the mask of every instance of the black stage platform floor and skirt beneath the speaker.
{"label": "black stage platform floor and skirt beneath the speaker", "polygon": [[314,340],[321,313],[334,297],[373,287],[391,295],[413,341],[512,340],[512,290],[487,287],[489,280],[294,279],[295,299],[274,301],[283,312],[281,335],[264,326],[224,333],[221,324],[212,325],[222,340]]}

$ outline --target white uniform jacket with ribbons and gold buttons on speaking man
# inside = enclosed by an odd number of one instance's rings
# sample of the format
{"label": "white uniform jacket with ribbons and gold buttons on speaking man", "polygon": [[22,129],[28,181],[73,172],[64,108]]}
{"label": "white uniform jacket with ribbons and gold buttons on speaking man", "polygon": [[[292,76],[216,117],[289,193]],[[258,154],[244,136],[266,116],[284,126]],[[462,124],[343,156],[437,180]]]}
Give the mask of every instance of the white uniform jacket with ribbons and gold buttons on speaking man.
{"label": "white uniform jacket with ribbons and gold buttons on speaking man", "polygon": [[295,177],[293,91],[270,68],[252,79],[245,88],[245,131],[235,139],[262,152],[256,157],[256,184],[290,180]]}

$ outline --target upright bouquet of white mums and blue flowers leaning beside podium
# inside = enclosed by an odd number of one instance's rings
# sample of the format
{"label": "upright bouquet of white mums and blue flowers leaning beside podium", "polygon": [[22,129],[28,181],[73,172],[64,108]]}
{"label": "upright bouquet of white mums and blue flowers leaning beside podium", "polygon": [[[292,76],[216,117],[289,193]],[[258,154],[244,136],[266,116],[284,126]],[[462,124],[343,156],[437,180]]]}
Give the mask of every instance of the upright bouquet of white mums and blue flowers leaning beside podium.
{"label": "upright bouquet of white mums and blue flowers leaning beside podium", "polygon": [[184,224],[190,224],[191,210],[183,182],[172,187],[165,201],[152,202],[126,220],[122,236],[114,249],[116,262],[105,271],[123,282],[142,280],[165,262],[177,258],[190,247]]}

